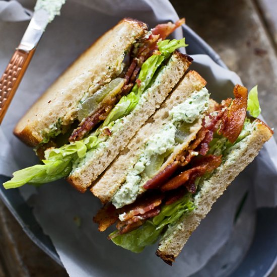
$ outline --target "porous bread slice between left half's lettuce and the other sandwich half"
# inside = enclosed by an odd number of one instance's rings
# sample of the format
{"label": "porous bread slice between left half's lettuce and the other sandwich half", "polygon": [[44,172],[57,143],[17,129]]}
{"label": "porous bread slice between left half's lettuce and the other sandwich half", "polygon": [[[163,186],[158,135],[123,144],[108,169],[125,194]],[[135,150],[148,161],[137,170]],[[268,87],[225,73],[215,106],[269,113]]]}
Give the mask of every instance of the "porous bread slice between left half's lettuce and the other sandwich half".
{"label": "porous bread slice between left half's lettuce and the other sandwich half", "polygon": [[155,82],[144,93],[132,113],[126,116],[122,127],[112,134],[105,147],[95,151],[92,156],[80,160],[67,180],[78,190],[84,192],[93,181],[109,166],[131,137],[163,103],[172,89],[185,74],[191,57],[175,51],[167,65],[159,72]]}

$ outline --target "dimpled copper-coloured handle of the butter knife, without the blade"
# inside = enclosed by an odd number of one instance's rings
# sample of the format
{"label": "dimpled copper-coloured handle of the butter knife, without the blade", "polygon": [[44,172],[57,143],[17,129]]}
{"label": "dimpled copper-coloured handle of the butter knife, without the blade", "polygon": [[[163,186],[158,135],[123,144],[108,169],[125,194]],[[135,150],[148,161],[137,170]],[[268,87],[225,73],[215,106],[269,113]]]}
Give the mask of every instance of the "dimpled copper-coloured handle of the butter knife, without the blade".
{"label": "dimpled copper-coloured handle of the butter knife, without the blade", "polygon": [[0,124],[35,52],[16,49],[0,80]]}

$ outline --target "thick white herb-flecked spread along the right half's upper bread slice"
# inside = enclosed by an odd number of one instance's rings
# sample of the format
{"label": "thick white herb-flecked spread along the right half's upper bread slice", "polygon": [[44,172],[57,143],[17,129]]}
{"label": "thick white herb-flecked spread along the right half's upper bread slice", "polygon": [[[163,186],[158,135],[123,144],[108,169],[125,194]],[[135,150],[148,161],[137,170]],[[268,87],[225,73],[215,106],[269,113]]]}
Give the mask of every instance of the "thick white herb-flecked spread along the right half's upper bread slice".
{"label": "thick white herb-flecked spread along the right half's upper bread slice", "polygon": [[[154,155],[167,153],[175,145],[177,127],[175,122],[192,123],[209,107],[209,92],[206,88],[192,93],[183,103],[175,106],[169,112],[170,121],[145,142],[145,148],[138,157],[137,162],[129,168],[125,182],[114,194],[112,203],[118,209],[123,205],[132,203],[138,194],[143,192],[142,174],[150,165]],[[142,183],[142,184],[141,184]]]}

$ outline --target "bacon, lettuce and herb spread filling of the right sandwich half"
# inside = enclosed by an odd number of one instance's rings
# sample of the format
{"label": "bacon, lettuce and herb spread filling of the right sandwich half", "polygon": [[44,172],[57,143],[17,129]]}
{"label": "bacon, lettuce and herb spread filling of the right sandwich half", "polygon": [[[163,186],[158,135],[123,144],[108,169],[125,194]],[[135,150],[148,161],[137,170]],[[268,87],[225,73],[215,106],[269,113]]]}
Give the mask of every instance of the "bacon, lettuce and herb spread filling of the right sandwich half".
{"label": "bacon, lettuce and herb spread filling of the right sandwich half", "polygon": [[[202,90],[201,93],[204,91]],[[142,169],[145,171],[147,165],[147,162],[142,163],[143,156],[147,156],[145,153],[148,153],[146,144],[138,161],[128,169],[126,181],[118,191],[122,195],[125,193],[126,196],[120,197],[117,192],[113,198],[113,204],[105,205],[94,218],[94,221],[99,224],[100,231],[117,223],[117,230],[111,233],[109,238],[125,249],[141,252],[145,246],[155,243],[159,236],[162,235],[165,238],[171,230],[176,230],[173,227],[197,208],[200,195],[203,193],[201,191],[203,182],[209,181],[225,163],[237,159],[239,150],[245,148],[249,135],[259,122],[253,118],[246,118],[246,88],[237,85],[234,94],[236,97],[234,100],[222,101],[208,114],[205,114],[206,104],[201,105],[199,101],[198,105],[201,106],[200,111],[203,116],[202,128],[196,138],[186,149],[179,152],[174,161],[162,170],[156,171],[150,178],[143,179],[140,174],[143,172]],[[209,95],[207,98],[209,99]],[[191,99],[188,101],[190,103]],[[183,103],[184,106],[185,103]],[[183,119],[181,115],[176,116],[177,111],[182,110],[180,107],[180,105],[176,106],[169,113],[172,119]],[[197,109],[195,108],[191,113],[197,114],[195,110]],[[175,116],[173,111],[176,112]],[[188,121],[193,122],[193,119]],[[157,138],[155,135],[150,138],[149,145],[153,145],[153,141],[159,142],[161,135],[164,135],[160,144],[162,153],[174,147],[175,140],[167,138],[163,133],[168,133],[171,138],[175,136],[176,129],[172,124],[170,122],[164,126],[161,133],[157,133]],[[163,142],[166,142],[166,147]],[[155,151],[155,147],[153,149]],[[158,151],[154,153],[159,154]],[[130,174],[134,172],[139,173],[132,177]],[[136,185],[140,181],[142,183],[137,189]],[[136,187],[134,193],[126,186],[130,182],[132,187]],[[144,193],[138,196],[140,189]]]}

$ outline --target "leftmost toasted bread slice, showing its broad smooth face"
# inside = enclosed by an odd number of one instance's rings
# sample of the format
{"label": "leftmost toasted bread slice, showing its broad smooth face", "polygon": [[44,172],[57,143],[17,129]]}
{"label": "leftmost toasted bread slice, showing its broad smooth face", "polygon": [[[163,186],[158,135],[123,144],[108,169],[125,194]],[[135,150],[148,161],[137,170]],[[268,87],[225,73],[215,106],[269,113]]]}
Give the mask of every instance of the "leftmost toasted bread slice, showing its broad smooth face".
{"label": "leftmost toasted bread slice, showing its broad smooth face", "polygon": [[128,18],[107,31],[29,109],[15,127],[15,135],[34,147],[53,127],[70,125],[77,117],[77,105],[88,89],[93,94],[117,77],[125,52],[146,32],[145,23]]}

